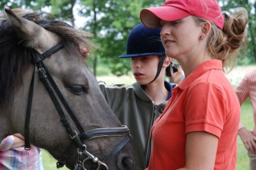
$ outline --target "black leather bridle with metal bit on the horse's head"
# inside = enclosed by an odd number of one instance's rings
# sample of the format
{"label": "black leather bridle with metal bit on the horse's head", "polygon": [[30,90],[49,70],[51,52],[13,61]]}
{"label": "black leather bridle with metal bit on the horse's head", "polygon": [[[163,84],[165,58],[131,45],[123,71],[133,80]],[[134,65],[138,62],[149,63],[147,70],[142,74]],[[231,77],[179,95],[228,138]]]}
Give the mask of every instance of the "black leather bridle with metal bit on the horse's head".
{"label": "black leather bridle with metal bit on the horse's head", "polygon": [[[52,103],[54,103],[54,106],[56,107],[56,110],[58,111],[61,122],[65,126],[68,135],[70,136],[70,139],[72,139],[72,143],[68,146],[67,150],[63,153],[62,157],[58,159],[57,167],[63,167],[68,157],[76,150],[77,148],[77,155],[78,159],[75,164],[75,169],[85,169],[84,163],[86,160],[91,159],[93,163],[98,164],[97,169],[100,168],[100,166],[106,167],[108,169],[108,166],[106,164],[111,160],[116,153],[118,153],[130,140],[131,140],[131,134],[129,129],[123,125],[123,127],[115,127],[115,128],[99,128],[99,129],[93,129],[91,131],[85,132],[82,125],[80,124],[79,120],[77,119],[74,112],[71,110],[70,106],[68,105],[67,101],[63,97],[63,95],[60,92],[60,89],[58,89],[58,86],[52,79],[51,74],[49,73],[47,67],[45,67],[44,62],[42,62],[44,59],[46,59],[49,55],[52,53],[58,52],[58,50],[61,50],[63,48],[63,44],[59,43],[58,45],[53,46],[50,50],[48,50],[45,53],[42,53],[42,55],[38,52],[34,53],[34,59],[33,64],[34,72],[31,79],[31,84],[29,88],[29,96],[28,96],[28,106],[27,106],[27,112],[26,112],[26,122],[25,122],[25,149],[30,149],[30,143],[29,143],[29,122],[30,122],[30,115],[31,115],[31,106],[32,106],[32,99],[33,99],[33,88],[34,88],[34,77],[35,77],[35,69],[37,67],[37,73],[44,84],[45,89],[49,93],[49,96],[51,97]],[[77,126],[77,129],[79,129],[80,134],[77,134],[77,132],[74,130],[72,125],[70,124],[70,121],[68,119],[68,116],[65,115],[64,111],[61,108],[61,105],[56,97],[57,94],[58,98],[60,99],[61,103],[67,110],[69,116],[72,118],[74,123]],[[109,155],[102,161],[100,161],[97,157],[93,156],[91,153],[89,153],[86,149],[86,145],[83,144],[84,141],[87,141],[91,138],[99,138],[103,136],[126,136],[126,138],[121,141],[121,143],[116,146],[116,148],[109,153]],[[81,160],[82,155],[86,155],[86,158],[84,160]]]}

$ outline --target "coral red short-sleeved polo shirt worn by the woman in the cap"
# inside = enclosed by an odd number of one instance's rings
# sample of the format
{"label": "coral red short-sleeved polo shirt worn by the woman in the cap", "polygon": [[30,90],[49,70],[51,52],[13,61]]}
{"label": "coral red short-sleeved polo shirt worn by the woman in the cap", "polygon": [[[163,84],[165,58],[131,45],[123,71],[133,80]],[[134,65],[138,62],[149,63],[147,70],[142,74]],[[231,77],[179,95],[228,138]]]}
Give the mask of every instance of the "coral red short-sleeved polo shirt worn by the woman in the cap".
{"label": "coral red short-sleeved polo shirt worn by the woman in the cap", "polygon": [[[205,131],[219,138],[214,169],[236,169],[240,105],[220,60],[207,60],[178,87],[151,131],[149,170],[186,164],[186,134]],[[209,146],[211,147],[211,146]]]}

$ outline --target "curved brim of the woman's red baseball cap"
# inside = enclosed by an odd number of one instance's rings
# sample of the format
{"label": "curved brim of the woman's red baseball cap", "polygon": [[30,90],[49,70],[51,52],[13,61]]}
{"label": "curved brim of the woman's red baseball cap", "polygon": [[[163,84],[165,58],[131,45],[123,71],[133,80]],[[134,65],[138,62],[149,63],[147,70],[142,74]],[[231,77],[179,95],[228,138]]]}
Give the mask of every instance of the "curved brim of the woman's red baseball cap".
{"label": "curved brim of the woman's red baseball cap", "polygon": [[159,6],[155,8],[145,8],[140,12],[140,20],[148,28],[161,27],[160,20],[173,21],[191,15],[187,11],[174,6]]}

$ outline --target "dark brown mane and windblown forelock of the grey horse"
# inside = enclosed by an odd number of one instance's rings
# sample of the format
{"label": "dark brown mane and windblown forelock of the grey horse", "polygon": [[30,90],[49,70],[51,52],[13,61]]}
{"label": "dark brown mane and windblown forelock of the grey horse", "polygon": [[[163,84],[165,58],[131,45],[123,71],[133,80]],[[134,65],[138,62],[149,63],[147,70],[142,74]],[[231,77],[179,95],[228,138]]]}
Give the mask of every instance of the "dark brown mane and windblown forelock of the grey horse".
{"label": "dark brown mane and windblown forelock of the grey horse", "polygon": [[[56,20],[52,15],[45,12],[13,9],[15,15],[26,18],[35,24],[44,27],[48,31],[55,32],[61,37],[64,48],[75,56],[81,56],[80,45],[86,45],[88,49],[95,47],[90,37],[92,34],[74,29],[71,25],[61,20]],[[33,59],[32,47],[25,47],[24,41],[14,31],[8,17],[0,14],[0,108],[10,106],[13,101],[15,89],[22,85],[22,75],[28,71]],[[3,105],[5,105],[3,107]]]}

